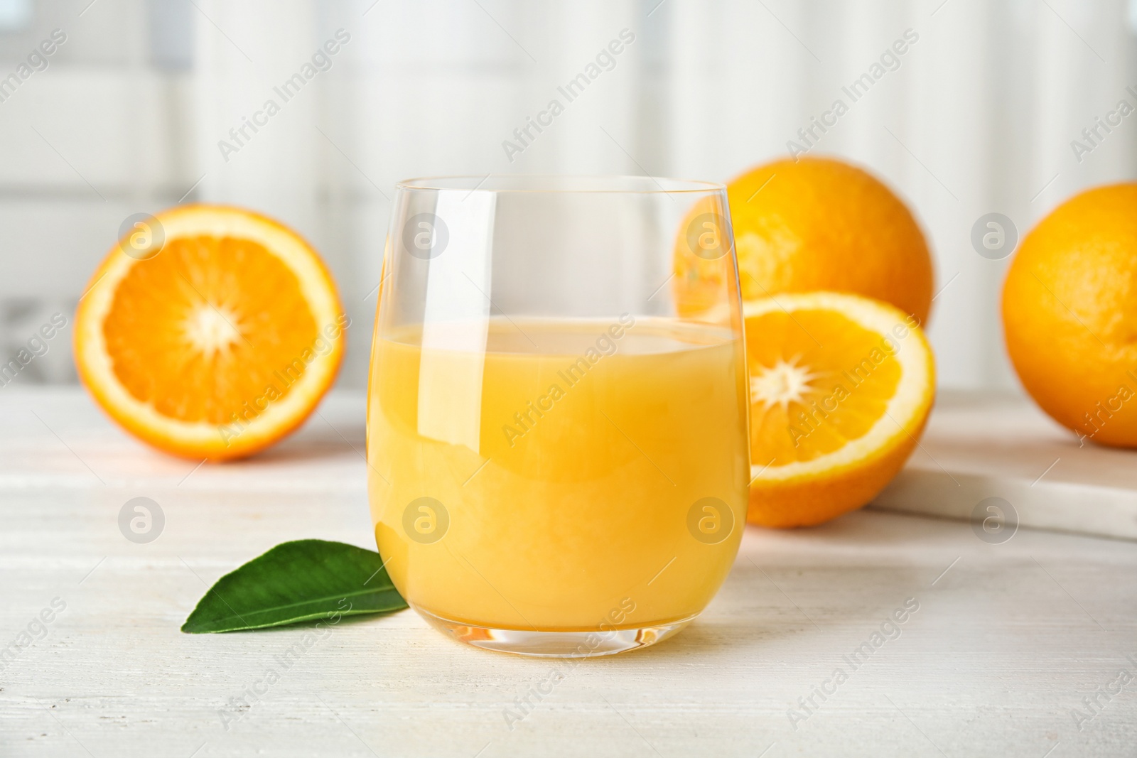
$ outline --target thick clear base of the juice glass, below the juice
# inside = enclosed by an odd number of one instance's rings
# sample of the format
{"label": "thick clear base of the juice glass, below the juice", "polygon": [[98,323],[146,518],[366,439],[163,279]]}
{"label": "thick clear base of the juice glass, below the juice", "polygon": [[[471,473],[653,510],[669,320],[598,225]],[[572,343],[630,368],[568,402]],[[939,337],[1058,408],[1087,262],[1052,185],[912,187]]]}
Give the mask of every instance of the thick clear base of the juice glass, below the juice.
{"label": "thick clear base of the juice glass, below the juice", "polygon": [[[679,633],[695,619],[688,616],[678,622],[656,624],[631,630],[608,632],[532,632],[524,630],[496,630],[451,622],[410,605],[431,626],[449,638],[483,650],[513,652],[537,658],[592,658],[614,656],[663,642]],[[697,616],[698,614],[696,614]]]}

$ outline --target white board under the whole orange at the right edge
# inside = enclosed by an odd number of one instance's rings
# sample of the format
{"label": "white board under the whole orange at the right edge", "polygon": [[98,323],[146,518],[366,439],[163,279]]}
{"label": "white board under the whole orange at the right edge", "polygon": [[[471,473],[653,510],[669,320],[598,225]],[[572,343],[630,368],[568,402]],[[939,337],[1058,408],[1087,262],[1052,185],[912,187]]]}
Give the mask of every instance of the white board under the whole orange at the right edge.
{"label": "white board under the whole orange at the right edge", "polygon": [[[1002,498],[1010,508],[987,498]],[[999,524],[994,505],[1006,514]],[[977,506],[979,506],[977,511]],[[944,392],[904,470],[870,506],[1137,540],[1137,450],[1086,442],[1018,394]]]}

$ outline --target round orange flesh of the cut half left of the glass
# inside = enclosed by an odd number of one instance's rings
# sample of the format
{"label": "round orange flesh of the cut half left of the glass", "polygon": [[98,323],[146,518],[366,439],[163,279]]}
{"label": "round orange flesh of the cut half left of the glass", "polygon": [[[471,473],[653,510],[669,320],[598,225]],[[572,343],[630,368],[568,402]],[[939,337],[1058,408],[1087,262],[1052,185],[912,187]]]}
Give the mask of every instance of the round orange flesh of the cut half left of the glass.
{"label": "round orange flesh of the cut half left of the glass", "polygon": [[[319,338],[296,274],[250,240],[168,240],[132,266],[102,324],[115,376],[184,422],[229,423],[274,386],[287,394]],[[318,344],[318,343],[317,343]]]}

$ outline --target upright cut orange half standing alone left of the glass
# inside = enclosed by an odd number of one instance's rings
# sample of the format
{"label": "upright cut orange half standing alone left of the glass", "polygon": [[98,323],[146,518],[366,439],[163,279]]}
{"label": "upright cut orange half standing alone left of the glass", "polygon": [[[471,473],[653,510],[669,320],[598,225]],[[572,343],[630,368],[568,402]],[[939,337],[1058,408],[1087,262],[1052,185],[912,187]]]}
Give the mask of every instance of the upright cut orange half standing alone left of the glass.
{"label": "upright cut orange half standing alone left of the glass", "polygon": [[100,406],[153,447],[249,456],[294,430],[331,386],[347,316],[316,252],[240,208],[139,220],[96,270],[75,364]]}

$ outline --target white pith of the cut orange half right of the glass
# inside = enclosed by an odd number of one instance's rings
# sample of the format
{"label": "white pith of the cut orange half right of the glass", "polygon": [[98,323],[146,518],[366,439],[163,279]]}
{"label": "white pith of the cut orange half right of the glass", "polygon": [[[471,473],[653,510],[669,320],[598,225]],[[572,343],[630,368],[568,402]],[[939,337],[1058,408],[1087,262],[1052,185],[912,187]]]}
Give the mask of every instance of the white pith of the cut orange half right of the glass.
{"label": "white pith of the cut orange half right of the glass", "polygon": [[[931,348],[923,333],[907,325],[907,316],[898,309],[879,303],[866,298],[839,294],[833,292],[813,292],[807,294],[779,294],[777,298],[755,300],[744,303],[745,318],[761,316],[771,311],[797,310],[833,310],[854,322],[858,326],[881,335],[893,335],[898,349],[891,353],[901,365],[901,380],[896,392],[888,401],[885,414],[863,436],[853,440],[838,450],[819,456],[813,460],[792,461],[782,466],[750,465],[750,477],[767,482],[783,482],[803,476],[815,476],[821,472],[833,472],[847,468],[872,458],[882,450],[890,449],[901,438],[915,435],[920,423],[931,405],[931,393],[927,388],[935,382]],[[898,339],[894,328],[901,326],[906,335]],[[754,339],[749,335],[748,339]],[[775,382],[785,382],[786,390],[791,383],[805,391],[808,378],[812,378],[808,367],[795,361],[785,363],[763,372],[758,378],[758,388],[763,393],[763,402],[787,397],[772,391],[778,389]],[[772,388],[772,389],[771,389]],[[755,377],[750,378],[752,402],[755,399]]]}

